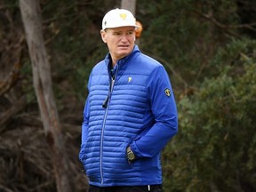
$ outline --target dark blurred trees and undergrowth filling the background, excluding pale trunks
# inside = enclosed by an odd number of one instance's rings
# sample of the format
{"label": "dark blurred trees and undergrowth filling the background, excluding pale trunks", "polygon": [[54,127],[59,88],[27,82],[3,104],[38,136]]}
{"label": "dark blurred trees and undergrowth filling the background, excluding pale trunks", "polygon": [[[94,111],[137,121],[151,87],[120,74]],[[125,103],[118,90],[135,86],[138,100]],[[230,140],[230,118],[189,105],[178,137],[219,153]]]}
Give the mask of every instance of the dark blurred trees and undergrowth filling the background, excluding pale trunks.
{"label": "dark blurred trees and undergrowth filling the background, excluding pale trunks", "polygon": [[[92,67],[108,52],[102,16],[114,0],[41,0],[44,40],[74,191]],[[164,191],[256,191],[256,3],[137,0],[140,50],[164,64],[179,133],[164,148]],[[17,0],[0,1],[0,191],[56,191]]]}

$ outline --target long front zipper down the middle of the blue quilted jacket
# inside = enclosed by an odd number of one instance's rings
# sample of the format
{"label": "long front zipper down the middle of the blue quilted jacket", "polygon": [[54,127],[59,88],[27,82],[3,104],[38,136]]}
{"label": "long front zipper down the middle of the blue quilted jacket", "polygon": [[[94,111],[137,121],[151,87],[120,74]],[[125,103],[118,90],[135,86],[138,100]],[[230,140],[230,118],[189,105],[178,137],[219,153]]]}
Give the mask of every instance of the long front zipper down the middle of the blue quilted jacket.
{"label": "long front zipper down the middle of the blue quilted jacket", "polygon": [[104,101],[105,105],[102,107],[106,108],[105,111],[105,115],[104,115],[104,120],[103,120],[103,126],[102,126],[102,131],[101,131],[101,135],[100,135],[100,179],[101,179],[101,185],[103,185],[103,168],[102,168],[102,154],[103,154],[103,135],[104,135],[104,129],[105,129],[105,124],[106,124],[106,119],[107,119],[107,114],[108,114],[108,104],[111,98],[111,94],[113,92],[114,89],[114,84],[115,84],[115,80],[116,80],[116,75],[117,75],[117,71],[118,71],[118,66],[116,68],[116,74],[115,76],[111,76],[111,84],[110,84],[110,89],[108,91],[108,97],[107,99]]}

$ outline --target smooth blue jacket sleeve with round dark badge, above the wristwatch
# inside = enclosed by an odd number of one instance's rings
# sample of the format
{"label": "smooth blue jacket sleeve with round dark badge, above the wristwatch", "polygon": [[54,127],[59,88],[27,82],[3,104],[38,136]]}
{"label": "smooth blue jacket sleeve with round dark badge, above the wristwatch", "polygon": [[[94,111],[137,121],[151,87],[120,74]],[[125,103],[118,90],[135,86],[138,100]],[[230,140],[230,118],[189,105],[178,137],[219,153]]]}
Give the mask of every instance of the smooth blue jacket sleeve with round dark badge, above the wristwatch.
{"label": "smooth blue jacket sleeve with round dark badge, above the wristwatch", "polygon": [[159,153],[178,132],[178,114],[172,85],[163,66],[157,67],[148,79],[148,97],[155,124],[131,143],[137,157],[152,157]]}

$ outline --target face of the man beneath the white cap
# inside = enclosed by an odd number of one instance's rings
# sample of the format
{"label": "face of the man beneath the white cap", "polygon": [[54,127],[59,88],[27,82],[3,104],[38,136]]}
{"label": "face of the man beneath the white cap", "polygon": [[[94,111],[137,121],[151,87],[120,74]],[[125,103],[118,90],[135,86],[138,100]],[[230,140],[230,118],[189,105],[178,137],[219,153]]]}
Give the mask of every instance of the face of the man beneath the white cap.
{"label": "face of the man beneath the white cap", "polygon": [[107,28],[101,30],[103,42],[108,44],[112,60],[116,63],[132,52],[135,41],[134,27]]}

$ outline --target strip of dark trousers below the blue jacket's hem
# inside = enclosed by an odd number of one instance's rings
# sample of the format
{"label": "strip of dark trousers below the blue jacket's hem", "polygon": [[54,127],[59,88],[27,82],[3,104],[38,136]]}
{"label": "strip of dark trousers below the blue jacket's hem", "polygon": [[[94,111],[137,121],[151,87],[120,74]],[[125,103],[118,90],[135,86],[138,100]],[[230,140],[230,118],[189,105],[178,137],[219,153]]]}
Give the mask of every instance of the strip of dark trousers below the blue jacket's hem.
{"label": "strip of dark trousers below the blue jacket's hem", "polygon": [[118,187],[106,187],[99,188],[96,186],[89,186],[89,192],[162,192],[162,185],[150,185],[148,186],[118,186]]}

